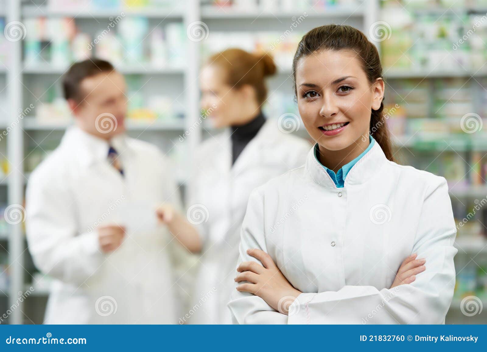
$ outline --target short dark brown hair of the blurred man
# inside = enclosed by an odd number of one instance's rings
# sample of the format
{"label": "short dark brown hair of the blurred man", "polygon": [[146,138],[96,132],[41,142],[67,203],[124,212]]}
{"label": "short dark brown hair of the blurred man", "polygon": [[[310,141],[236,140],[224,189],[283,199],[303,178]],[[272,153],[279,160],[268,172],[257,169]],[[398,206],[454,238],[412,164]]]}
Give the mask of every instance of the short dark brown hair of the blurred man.
{"label": "short dark brown hair of the blurred man", "polygon": [[114,70],[113,65],[105,60],[101,59],[87,59],[84,61],[75,62],[66,72],[62,79],[62,88],[64,98],[76,99],[81,101],[84,97],[81,96],[79,84],[81,81],[88,77],[93,77],[100,73],[112,72]]}

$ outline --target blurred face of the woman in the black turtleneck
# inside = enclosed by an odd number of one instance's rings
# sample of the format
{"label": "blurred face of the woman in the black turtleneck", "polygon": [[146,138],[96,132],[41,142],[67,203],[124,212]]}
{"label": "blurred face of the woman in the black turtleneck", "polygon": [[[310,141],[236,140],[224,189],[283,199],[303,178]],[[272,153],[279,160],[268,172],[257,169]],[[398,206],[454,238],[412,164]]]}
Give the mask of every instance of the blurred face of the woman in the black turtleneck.
{"label": "blurred face of the woman in the black turtleneck", "polygon": [[203,68],[200,76],[201,107],[208,111],[213,127],[239,124],[246,97],[242,89],[225,82],[225,71],[217,65]]}

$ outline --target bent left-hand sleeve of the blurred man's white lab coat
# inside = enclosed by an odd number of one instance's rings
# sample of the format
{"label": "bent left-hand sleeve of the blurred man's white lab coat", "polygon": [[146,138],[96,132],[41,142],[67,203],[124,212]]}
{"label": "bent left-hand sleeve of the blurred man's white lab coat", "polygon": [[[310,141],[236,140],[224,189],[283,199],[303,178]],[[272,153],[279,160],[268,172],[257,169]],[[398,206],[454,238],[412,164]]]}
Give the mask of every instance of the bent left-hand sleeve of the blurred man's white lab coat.
{"label": "bent left-hand sleeve of the blurred man's white lab coat", "polygon": [[103,260],[96,231],[77,233],[74,196],[66,182],[34,173],[26,193],[30,253],[44,274],[82,285]]}

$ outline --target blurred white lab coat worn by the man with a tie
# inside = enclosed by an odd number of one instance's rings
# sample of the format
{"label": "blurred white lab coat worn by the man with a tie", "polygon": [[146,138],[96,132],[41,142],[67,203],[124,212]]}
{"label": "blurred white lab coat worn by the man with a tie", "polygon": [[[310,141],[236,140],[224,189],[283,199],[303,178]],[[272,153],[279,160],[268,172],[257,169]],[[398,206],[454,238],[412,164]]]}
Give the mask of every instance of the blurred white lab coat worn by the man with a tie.
{"label": "blurred white lab coat worn by the man with a tie", "polygon": [[[154,206],[180,207],[168,161],[149,143],[124,135],[113,147],[77,127],[32,173],[27,187],[27,239],[37,268],[54,278],[48,324],[177,323],[167,243]],[[127,227],[123,244],[100,251],[97,228]]]}

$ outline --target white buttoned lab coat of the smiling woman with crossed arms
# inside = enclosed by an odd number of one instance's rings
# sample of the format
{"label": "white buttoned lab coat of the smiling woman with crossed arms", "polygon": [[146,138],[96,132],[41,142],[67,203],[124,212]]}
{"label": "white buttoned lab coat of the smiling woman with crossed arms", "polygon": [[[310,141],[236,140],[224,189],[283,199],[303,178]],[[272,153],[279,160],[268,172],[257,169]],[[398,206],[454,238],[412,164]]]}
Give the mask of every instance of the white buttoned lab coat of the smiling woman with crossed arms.
{"label": "white buttoned lab coat of the smiling woman with crossed arms", "polygon": [[[257,261],[246,250],[261,249],[302,293],[288,316],[234,290],[234,322],[444,323],[455,285],[455,235],[444,177],[397,165],[375,143],[337,188],[312,149],[305,166],[252,193],[239,258]],[[426,271],[391,290],[413,253],[426,258]]]}

